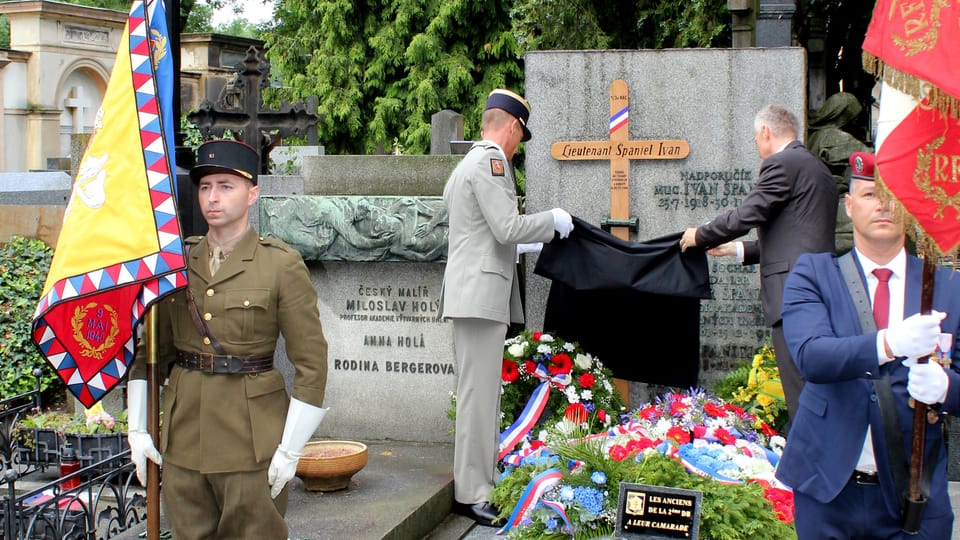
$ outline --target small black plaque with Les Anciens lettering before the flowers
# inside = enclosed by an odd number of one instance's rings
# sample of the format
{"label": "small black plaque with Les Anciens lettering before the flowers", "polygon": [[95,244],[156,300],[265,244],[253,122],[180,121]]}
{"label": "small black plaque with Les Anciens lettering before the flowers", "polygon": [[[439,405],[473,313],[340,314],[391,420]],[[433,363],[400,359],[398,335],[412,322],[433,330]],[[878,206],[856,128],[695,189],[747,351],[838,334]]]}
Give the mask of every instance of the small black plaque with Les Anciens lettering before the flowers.
{"label": "small black plaque with Les Anciens lettering before the flowers", "polygon": [[646,484],[620,484],[616,538],[700,537],[703,492]]}

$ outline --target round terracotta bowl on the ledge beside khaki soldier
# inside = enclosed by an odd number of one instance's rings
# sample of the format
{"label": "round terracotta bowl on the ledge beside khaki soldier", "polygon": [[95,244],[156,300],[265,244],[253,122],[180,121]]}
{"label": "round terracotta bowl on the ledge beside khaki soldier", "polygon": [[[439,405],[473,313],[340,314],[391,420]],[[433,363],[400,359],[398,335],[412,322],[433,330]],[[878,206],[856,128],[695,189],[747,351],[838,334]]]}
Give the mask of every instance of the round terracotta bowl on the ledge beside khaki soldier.
{"label": "round terracotta bowl on the ledge beside khaki soldier", "polygon": [[311,441],[303,447],[297,477],[307,491],[337,491],[367,464],[367,445],[353,441]]}

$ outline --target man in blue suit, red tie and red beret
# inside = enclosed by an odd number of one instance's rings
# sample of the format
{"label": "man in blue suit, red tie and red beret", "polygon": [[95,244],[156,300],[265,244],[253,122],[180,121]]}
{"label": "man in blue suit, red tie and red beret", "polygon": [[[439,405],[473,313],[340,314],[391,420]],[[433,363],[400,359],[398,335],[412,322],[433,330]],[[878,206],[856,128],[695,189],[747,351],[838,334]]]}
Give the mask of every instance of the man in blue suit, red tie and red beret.
{"label": "man in blue suit, red tie and red beret", "polygon": [[[907,255],[903,221],[875,191],[873,159],[851,156],[851,259],[801,255],[784,287],[783,330],[806,384],[777,478],[793,488],[800,540],[942,540],[953,526],[941,414],[960,413],[960,275],[938,269],[933,311],[919,313],[923,263]],[[931,353],[928,363],[915,361]],[[919,533],[907,536],[895,478],[903,485],[913,400],[932,407],[924,456],[932,469]],[[881,409],[895,411],[887,418],[899,430],[885,432]]]}

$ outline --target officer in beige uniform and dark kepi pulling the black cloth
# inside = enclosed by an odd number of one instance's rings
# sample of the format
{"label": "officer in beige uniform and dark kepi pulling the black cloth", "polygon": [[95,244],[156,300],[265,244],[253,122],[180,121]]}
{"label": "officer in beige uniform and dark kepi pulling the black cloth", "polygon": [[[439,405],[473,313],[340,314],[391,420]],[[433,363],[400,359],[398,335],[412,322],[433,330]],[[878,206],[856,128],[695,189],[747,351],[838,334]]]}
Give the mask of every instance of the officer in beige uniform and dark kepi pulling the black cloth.
{"label": "officer in beige uniform and dark kepi pulling the black cloth", "polygon": [[530,140],[530,104],[494,90],[483,112],[483,140],[473,145],[443,190],[449,212],[447,266],[441,316],[453,320],[457,425],[453,483],[455,510],[492,525],[499,510],[487,501],[497,478],[500,370],[511,322],[523,322],[516,261],[573,230],[560,208],[520,214],[510,160]]}

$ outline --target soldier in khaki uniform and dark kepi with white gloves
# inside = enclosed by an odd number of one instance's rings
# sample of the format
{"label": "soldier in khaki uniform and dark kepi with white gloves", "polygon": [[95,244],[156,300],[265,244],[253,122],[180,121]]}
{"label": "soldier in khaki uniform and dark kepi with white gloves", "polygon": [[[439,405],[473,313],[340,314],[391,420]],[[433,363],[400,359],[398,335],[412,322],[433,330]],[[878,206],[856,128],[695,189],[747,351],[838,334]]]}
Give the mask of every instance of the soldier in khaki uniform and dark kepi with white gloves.
{"label": "soldier in khaki uniform and dark kepi with white gloves", "polygon": [[[163,502],[177,540],[286,539],[284,486],[327,411],[327,342],[307,268],[296,251],[248,223],[258,169],[257,152],[241,142],[200,146],[190,176],[209,231],[185,241],[189,290],[157,312],[160,372],[169,373]],[[296,368],[292,399],[273,368],[281,333]],[[147,459],[161,463],[146,432],[144,353],[128,383],[131,459],[141,482]]]}

